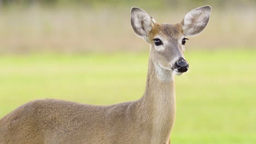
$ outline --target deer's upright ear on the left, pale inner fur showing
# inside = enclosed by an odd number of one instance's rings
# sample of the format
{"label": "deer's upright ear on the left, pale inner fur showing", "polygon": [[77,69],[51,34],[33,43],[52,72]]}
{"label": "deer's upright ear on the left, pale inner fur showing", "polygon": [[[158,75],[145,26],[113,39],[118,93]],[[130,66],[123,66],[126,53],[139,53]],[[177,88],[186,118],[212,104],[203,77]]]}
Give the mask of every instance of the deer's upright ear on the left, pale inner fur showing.
{"label": "deer's upright ear on the left, pale inner fur showing", "polygon": [[142,9],[132,7],[131,9],[131,25],[133,31],[138,37],[148,41],[148,34],[152,29],[151,17]]}

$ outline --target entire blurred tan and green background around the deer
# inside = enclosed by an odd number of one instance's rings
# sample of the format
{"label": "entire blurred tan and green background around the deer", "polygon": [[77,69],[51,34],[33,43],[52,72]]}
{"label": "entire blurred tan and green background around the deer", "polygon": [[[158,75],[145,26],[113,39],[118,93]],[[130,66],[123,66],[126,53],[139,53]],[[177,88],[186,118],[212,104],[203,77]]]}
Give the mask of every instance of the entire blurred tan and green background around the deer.
{"label": "entire blurred tan and green background around the deer", "polygon": [[186,43],[172,143],[256,143],[255,0],[0,0],[0,117],[34,99],[141,98],[149,45],[132,31],[131,7],[177,23],[202,5],[211,19]]}

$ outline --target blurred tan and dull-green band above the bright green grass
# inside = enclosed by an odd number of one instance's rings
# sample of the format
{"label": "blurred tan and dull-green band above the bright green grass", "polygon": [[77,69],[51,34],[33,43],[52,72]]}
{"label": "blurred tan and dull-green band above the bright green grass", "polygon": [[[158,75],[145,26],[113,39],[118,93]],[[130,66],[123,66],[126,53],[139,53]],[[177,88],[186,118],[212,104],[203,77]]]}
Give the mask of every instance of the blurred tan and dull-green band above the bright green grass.
{"label": "blurred tan and dull-green band above the bright green grass", "polygon": [[177,23],[212,5],[200,38],[187,49],[254,49],[256,1],[7,1],[0,0],[0,53],[148,51],[130,26],[130,8],[159,23]]}

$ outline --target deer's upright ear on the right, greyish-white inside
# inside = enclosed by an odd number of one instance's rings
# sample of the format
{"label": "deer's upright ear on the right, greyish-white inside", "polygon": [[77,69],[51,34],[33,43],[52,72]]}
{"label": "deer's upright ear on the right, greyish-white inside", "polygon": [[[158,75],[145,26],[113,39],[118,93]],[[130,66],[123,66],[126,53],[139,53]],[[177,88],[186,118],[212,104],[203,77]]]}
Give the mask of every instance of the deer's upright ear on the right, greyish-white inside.
{"label": "deer's upright ear on the right, greyish-white inside", "polygon": [[187,37],[194,37],[200,34],[207,26],[210,19],[211,6],[206,5],[191,10],[181,22],[183,34]]}

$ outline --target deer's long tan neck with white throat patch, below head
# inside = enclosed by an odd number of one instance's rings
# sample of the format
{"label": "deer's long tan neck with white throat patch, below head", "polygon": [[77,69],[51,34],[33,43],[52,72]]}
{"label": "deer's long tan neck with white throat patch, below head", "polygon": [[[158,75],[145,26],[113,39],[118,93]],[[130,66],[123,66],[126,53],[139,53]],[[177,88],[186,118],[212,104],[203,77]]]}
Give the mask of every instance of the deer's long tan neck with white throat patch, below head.
{"label": "deer's long tan neck with white throat patch, below head", "polygon": [[151,125],[154,137],[164,139],[165,136],[170,136],[176,111],[174,75],[172,71],[161,68],[152,59],[149,59],[141,111],[144,112],[144,121]]}

